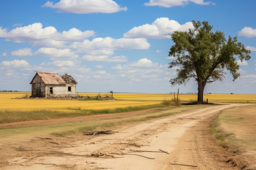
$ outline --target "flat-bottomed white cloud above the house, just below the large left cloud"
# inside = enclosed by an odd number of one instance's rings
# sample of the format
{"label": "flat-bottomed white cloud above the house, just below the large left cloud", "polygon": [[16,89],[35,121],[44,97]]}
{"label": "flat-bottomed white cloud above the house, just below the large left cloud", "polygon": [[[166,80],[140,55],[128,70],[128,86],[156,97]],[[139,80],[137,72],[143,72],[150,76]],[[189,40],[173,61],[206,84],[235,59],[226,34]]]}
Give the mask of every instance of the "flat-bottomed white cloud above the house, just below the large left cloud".
{"label": "flat-bottomed white cloud above the house, just below the large left cloud", "polygon": [[75,52],[71,49],[55,49],[55,48],[40,48],[34,55],[46,56],[46,57],[68,57],[68,58],[78,58]]}

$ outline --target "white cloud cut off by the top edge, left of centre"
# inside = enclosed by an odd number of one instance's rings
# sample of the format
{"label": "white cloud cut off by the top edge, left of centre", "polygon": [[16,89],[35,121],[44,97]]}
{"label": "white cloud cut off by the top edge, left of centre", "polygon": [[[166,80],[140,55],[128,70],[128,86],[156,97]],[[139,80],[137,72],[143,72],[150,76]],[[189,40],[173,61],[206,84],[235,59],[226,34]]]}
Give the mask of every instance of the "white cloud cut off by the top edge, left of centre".
{"label": "white cloud cut off by the top edge, left of centre", "polygon": [[56,8],[65,13],[116,13],[126,11],[113,0],[60,0],[56,4],[47,1],[42,7]]}

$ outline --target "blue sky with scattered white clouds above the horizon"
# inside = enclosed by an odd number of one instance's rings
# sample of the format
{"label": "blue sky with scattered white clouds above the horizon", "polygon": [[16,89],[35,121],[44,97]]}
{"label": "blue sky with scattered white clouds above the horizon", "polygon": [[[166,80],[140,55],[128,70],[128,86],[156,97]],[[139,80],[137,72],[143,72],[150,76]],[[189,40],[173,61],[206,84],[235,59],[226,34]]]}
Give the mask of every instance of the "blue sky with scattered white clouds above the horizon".
{"label": "blue sky with scattered white clouds above the horizon", "polygon": [[168,34],[192,20],[237,36],[252,58],[240,77],[204,93],[256,93],[255,0],[2,0],[0,91],[31,91],[35,71],[72,75],[78,92],[197,93],[196,82],[172,87]]}

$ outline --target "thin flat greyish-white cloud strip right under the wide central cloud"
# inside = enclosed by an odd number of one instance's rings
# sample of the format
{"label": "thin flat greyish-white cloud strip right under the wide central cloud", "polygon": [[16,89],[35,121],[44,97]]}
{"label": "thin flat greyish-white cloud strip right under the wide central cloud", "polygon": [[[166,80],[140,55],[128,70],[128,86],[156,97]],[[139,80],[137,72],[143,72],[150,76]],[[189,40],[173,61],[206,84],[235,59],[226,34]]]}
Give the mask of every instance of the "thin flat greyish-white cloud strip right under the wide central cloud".
{"label": "thin flat greyish-white cloud strip right under the wide central cloud", "polygon": [[108,55],[84,55],[82,60],[88,62],[126,62],[127,57],[125,56],[115,56],[108,57]]}

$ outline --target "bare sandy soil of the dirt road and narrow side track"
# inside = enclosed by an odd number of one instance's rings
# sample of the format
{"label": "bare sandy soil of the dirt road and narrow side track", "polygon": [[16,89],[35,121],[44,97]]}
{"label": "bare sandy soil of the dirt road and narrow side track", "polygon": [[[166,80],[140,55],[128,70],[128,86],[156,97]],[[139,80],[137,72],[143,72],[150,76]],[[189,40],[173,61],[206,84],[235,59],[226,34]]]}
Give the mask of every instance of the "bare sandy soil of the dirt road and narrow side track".
{"label": "bare sandy soil of the dirt road and narrow side track", "polygon": [[[215,105],[119,127],[111,134],[40,136],[0,140],[1,170],[249,170],[246,154],[231,154],[208,131],[220,110],[242,104]],[[129,113],[146,114],[153,110]],[[162,113],[168,110],[160,111]],[[55,119],[47,124],[97,120],[127,113]],[[45,121],[1,124],[35,126]],[[253,159],[253,158],[250,158]]]}

